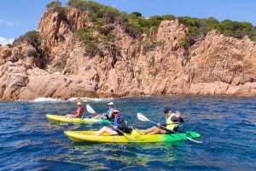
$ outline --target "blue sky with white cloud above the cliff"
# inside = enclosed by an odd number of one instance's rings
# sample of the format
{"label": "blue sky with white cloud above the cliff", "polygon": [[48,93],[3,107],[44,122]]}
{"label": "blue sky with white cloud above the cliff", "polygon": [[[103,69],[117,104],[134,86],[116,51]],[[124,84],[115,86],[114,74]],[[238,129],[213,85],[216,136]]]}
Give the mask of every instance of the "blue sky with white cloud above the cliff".
{"label": "blue sky with white cloud above the cliff", "polygon": [[[54,0],[3,0],[0,6],[0,44],[13,43],[27,31],[37,31],[46,5]],[[68,0],[59,0],[66,6]],[[95,0],[127,13],[144,17],[173,14],[218,21],[246,21],[256,26],[255,0]]]}

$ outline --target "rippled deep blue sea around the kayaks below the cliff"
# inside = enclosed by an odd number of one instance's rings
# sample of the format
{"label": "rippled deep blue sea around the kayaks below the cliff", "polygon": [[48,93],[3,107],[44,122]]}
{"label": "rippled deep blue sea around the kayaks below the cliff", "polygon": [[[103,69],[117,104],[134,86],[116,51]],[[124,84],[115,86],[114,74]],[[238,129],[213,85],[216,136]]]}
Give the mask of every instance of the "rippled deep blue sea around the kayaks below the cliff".
{"label": "rippled deep blue sea around the kayaks below the cliff", "polygon": [[[103,124],[52,123],[48,113],[72,113],[70,100],[0,101],[0,170],[256,170],[256,97],[144,96],[83,99],[96,112],[113,101],[134,128],[164,123],[166,107],[182,112],[179,131],[201,134],[202,144],[75,143],[64,130],[90,130]],[[108,125],[108,124],[107,124]]]}

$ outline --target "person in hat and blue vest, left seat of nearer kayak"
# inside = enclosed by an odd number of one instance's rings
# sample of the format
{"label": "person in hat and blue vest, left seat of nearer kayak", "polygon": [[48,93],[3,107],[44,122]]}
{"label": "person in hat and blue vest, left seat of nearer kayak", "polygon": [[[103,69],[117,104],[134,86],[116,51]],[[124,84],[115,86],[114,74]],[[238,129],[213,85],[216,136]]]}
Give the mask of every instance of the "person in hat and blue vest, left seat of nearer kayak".
{"label": "person in hat and blue vest, left seat of nearer kayak", "polygon": [[117,135],[122,134],[122,132],[125,132],[126,124],[125,124],[125,118],[120,116],[120,111],[113,110],[114,120],[113,125],[111,128],[109,127],[102,127],[99,131],[96,132],[96,135],[102,135],[104,133],[107,133],[109,135]]}

